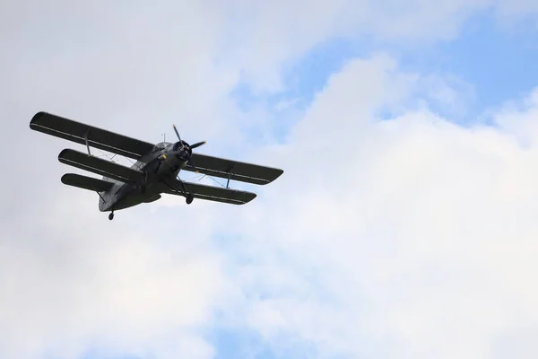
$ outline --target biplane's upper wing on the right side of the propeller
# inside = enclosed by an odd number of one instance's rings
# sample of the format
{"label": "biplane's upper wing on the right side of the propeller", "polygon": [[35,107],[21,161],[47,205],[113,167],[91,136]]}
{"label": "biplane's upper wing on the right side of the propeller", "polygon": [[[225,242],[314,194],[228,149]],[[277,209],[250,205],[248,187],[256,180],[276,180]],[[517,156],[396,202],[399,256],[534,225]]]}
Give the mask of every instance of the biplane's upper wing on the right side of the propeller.
{"label": "biplane's upper wing on the right side of the propeller", "polygon": [[252,163],[227,160],[224,158],[193,153],[193,162],[196,168],[187,165],[185,171],[199,171],[208,176],[223,179],[240,180],[242,182],[265,185],[276,180],[284,171]]}

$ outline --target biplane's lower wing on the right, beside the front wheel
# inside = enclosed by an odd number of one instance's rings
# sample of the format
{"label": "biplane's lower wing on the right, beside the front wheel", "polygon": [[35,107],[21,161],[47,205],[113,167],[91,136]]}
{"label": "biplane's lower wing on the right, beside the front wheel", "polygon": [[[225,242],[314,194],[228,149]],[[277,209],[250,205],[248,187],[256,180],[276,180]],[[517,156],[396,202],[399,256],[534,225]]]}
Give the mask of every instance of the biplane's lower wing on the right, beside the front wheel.
{"label": "biplane's lower wing on the right, beside the front wheel", "polygon": [[[172,187],[181,188],[180,182],[181,180],[176,180]],[[229,203],[231,205],[244,205],[256,198],[255,193],[240,191],[237,189],[206,186],[186,181],[183,181],[183,184],[185,185],[187,192],[191,193],[195,198],[215,202]],[[163,186],[162,190],[164,193],[168,193],[169,195],[183,195],[178,189],[172,189],[168,186]]]}

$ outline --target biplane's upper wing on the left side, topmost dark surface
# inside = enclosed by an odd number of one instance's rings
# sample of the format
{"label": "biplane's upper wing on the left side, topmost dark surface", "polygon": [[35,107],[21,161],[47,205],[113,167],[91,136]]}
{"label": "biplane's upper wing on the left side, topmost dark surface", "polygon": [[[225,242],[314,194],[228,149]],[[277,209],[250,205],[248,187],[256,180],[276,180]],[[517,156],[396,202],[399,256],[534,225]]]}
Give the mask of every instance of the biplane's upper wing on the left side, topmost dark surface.
{"label": "biplane's upper wing on the left side, topmost dark surface", "polygon": [[153,144],[47,112],[36,113],[30,121],[30,128],[78,144],[86,144],[85,137],[87,136],[88,144],[92,147],[134,158],[135,160],[152,151],[153,148]]}

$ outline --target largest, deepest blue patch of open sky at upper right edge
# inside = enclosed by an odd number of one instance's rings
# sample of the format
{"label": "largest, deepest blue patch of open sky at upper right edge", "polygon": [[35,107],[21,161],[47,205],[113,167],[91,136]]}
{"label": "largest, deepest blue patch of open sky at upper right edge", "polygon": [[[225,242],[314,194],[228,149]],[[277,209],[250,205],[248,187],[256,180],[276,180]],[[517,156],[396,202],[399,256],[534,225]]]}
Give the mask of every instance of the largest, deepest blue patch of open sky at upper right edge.
{"label": "largest, deepest blue patch of open sky at upper right edge", "polygon": [[473,17],[454,41],[404,54],[404,69],[456,74],[474,87],[475,110],[519,98],[538,83],[535,31],[505,30],[488,14]]}

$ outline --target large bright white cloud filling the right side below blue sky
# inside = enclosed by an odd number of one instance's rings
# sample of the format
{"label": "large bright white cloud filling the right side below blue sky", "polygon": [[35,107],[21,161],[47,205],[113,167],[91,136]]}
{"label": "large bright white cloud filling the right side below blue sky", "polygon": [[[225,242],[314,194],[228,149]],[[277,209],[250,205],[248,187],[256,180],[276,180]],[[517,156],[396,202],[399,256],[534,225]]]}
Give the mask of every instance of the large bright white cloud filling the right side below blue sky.
{"label": "large bright white cloud filling the right side below blue sky", "polygon": [[534,127],[535,103],[499,112],[495,127],[415,107],[376,118],[408,100],[409,77],[384,56],[335,74],[286,149],[266,153],[285,175],[234,211],[245,240],[230,255],[256,258],[236,267],[237,320],[273,347],[489,358],[538,325],[537,143],[514,130]]}

